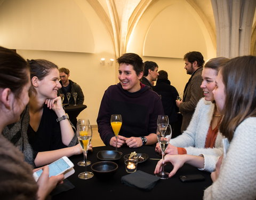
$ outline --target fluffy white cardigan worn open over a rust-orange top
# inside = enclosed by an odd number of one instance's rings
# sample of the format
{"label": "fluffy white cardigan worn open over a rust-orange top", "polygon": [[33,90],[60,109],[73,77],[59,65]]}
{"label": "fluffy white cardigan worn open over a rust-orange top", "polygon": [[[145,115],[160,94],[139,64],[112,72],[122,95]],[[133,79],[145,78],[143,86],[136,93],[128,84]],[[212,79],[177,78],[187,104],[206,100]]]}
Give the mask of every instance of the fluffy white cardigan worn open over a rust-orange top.
{"label": "fluffy white cardigan worn open over a rust-orange top", "polygon": [[204,98],[198,101],[193,117],[184,131],[178,137],[171,139],[170,144],[176,147],[183,147],[187,154],[200,155],[205,158],[204,169],[206,171],[214,171],[218,156],[223,153],[222,135],[218,133],[214,148],[205,148],[206,135],[211,124],[214,112],[214,104],[206,101]]}

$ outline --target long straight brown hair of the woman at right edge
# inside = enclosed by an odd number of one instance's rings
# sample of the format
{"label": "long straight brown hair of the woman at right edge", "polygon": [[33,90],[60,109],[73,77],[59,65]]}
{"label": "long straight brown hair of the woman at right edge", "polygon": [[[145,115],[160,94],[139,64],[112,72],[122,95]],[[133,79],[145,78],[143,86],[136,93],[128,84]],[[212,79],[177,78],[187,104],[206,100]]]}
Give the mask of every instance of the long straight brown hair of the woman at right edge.
{"label": "long straight brown hair of the woman at right edge", "polygon": [[220,73],[226,94],[220,132],[231,141],[236,127],[244,119],[256,116],[256,57],[233,58]]}

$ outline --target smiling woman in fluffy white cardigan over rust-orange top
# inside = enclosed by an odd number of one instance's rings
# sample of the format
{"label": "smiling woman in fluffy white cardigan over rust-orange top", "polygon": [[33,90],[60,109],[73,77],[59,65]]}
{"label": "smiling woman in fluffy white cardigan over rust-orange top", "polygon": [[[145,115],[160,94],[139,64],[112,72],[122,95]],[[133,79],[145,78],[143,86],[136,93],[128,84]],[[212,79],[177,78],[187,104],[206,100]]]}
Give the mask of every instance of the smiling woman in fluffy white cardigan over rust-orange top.
{"label": "smiling woman in fluffy white cardigan over rust-orange top", "polygon": [[[166,154],[190,154],[190,155],[213,155],[215,158],[205,166],[206,171],[212,172],[215,169],[217,156],[222,155],[222,135],[219,133],[219,126],[222,115],[214,103],[213,90],[218,71],[228,58],[210,59],[204,66],[202,72],[203,82],[201,88],[204,92],[204,98],[199,100],[195,113],[190,121],[186,131],[177,138],[171,139],[166,148]],[[161,149],[156,146],[159,152]]]}

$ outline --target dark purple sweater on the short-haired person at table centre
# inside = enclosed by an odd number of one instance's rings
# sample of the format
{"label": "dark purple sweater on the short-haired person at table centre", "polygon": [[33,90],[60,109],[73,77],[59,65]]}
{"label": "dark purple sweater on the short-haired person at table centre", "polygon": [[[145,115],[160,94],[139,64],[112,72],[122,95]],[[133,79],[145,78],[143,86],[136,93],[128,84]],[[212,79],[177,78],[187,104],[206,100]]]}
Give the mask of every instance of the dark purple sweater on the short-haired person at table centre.
{"label": "dark purple sweater on the short-haired person at table centre", "polygon": [[112,114],[121,114],[123,123],[119,135],[140,137],[156,133],[157,117],[163,115],[163,106],[159,95],[141,84],[137,92],[123,90],[122,85],[111,85],[101,100],[97,118],[98,131],[105,145],[115,136],[110,125]]}

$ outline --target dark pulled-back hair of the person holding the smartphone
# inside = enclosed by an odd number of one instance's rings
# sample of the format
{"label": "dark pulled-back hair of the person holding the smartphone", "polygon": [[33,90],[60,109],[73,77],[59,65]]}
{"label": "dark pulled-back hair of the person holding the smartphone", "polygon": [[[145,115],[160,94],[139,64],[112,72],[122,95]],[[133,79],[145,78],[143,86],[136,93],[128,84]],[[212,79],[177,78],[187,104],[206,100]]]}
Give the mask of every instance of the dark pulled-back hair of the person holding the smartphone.
{"label": "dark pulled-back hair of the person holding the smartphone", "polygon": [[29,66],[15,51],[0,46],[0,87],[10,88],[15,97],[29,82]]}

